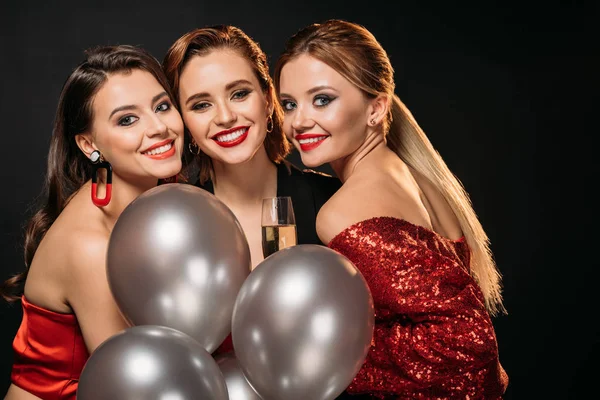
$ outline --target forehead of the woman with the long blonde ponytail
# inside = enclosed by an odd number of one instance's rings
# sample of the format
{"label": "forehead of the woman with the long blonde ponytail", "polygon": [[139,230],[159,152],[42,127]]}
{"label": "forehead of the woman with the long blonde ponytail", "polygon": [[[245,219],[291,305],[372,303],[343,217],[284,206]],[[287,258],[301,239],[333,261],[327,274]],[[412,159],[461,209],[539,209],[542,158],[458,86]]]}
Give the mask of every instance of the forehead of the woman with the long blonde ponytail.
{"label": "forehead of the woman with the long blonde ponytail", "polygon": [[281,69],[281,91],[306,91],[315,86],[332,86],[340,90],[354,87],[335,69],[323,61],[302,54],[287,62]]}

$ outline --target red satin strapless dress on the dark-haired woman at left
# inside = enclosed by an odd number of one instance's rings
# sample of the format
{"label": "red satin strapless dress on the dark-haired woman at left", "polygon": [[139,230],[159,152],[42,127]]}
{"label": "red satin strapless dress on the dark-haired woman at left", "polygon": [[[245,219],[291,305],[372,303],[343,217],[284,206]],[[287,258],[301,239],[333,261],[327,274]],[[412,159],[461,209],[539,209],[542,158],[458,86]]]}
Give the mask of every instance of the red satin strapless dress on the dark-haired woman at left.
{"label": "red satin strapless dress on the dark-haired woman at left", "polygon": [[75,400],[89,354],[77,318],[21,298],[23,320],[13,341],[11,381],[44,400]]}

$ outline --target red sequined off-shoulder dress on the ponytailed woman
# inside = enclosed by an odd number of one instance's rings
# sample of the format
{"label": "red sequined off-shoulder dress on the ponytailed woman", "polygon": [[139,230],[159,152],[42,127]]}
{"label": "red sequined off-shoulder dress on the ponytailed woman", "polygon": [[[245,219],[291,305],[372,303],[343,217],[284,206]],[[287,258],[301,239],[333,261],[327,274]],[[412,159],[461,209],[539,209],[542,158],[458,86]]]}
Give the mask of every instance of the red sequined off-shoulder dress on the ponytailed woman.
{"label": "red sequined off-shoulder dress on the ponytailed woman", "polygon": [[502,398],[508,377],[463,239],[377,217],[346,228],[329,247],[361,271],[375,304],[371,349],[348,393]]}

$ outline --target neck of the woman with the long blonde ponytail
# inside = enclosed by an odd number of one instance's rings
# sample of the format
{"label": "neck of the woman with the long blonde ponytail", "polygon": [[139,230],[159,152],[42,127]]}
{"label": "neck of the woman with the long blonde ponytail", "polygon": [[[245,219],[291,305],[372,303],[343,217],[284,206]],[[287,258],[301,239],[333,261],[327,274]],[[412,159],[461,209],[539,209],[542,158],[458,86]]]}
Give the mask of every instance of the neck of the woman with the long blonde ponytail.
{"label": "neck of the woman with the long blonde ponytail", "polygon": [[377,160],[378,155],[385,154],[388,149],[385,137],[380,130],[372,131],[365,141],[352,154],[330,163],[331,168],[342,182],[346,182],[357,169],[370,164],[369,160]]}

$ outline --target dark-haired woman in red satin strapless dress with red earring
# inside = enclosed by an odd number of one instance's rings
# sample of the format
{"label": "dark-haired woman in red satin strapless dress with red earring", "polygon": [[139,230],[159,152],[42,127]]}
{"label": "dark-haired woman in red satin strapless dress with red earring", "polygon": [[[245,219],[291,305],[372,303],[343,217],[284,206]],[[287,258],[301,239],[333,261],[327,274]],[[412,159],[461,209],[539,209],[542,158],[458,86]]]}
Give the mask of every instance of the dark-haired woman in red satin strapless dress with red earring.
{"label": "dark-haired woman in red satin strapless dress with red earring", "polygon": [[106,278],[110,232],[131,201],[179,173],[182,147],[160,63],[130,46],[88,52],[58,102],[27,269],[0,289],[23,307],[7,400],[75,399],[88,355],[128,326]]}

